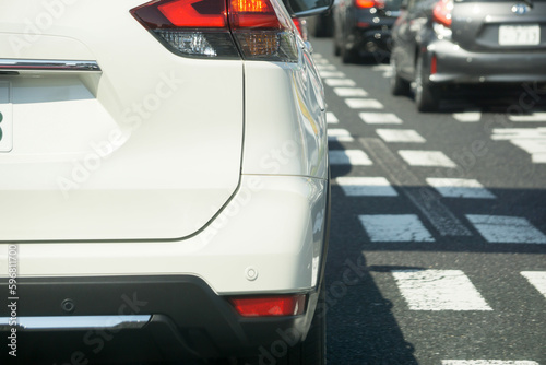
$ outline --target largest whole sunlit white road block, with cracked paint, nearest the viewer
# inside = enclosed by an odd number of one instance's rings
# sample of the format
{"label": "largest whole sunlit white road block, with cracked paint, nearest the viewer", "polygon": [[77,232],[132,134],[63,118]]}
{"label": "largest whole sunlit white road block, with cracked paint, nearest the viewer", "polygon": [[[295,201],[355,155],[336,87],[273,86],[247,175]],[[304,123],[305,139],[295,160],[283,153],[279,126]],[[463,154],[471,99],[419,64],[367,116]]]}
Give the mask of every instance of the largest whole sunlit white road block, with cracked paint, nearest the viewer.
{"label": "largest whole sunlit white road block, with cracked paint, nearest the viewer", "polygon": [[411,310],[492,310],[461,270],[395,270]]}

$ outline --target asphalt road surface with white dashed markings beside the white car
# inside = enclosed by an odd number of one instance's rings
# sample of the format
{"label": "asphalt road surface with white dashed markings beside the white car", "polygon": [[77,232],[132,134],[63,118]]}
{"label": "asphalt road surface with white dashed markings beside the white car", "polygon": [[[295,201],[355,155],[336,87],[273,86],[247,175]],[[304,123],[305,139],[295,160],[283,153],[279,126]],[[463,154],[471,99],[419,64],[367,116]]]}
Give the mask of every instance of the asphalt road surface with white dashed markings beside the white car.
{"label": "asphalt road surface with white dashed markings beside the white car", "polygon": [[329,364],[546,365],[546,93],[419,114],[390,95],[387,60],[312,44],[333,178]]}

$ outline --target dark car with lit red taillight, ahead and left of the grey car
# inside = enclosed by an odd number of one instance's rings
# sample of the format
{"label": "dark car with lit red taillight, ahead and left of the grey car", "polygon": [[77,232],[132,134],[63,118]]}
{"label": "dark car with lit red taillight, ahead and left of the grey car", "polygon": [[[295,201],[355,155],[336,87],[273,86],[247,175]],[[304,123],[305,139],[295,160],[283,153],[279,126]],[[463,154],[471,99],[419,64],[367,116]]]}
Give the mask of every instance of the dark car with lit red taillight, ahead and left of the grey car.
{"label": "dark car with lit red taillight, ahead and left of the grey car", "polygon": [[334,54],[344,63],[391,50],[391,28],[402,0],[339,0],[333,8]]}

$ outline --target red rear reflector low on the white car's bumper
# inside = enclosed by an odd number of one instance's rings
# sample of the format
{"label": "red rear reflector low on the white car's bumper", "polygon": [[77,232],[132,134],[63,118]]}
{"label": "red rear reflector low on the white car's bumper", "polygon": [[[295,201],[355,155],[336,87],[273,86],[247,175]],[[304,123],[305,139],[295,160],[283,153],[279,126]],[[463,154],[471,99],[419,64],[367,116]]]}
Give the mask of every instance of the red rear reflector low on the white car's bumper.
{"label": "red rear reflector low on the white car's bumper", "polygon": [[242,317],[299,316],[304,314],[306,296],[234,297],[229,302]]}

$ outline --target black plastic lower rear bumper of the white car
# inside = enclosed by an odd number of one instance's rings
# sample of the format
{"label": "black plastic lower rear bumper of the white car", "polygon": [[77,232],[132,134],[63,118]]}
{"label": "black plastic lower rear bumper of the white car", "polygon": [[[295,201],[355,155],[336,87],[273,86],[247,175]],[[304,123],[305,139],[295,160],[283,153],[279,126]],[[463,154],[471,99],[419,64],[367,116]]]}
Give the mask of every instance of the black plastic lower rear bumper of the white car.
{"label": "black plastic lower rear bumper of the white car", "polygon": [[[2,285],[3,286],[3,285]],[[17,317],[139,316],[139,326],[114,328],[16,328],[17,363],[174,361],[250,355],[275,341],[292,345],[307,333],[318,293],[308,291],[305,315],[244,318],[201,279],[192,275],[40,278],[21,280]],[[62,303],[72,301],[67,313]],[[64,307],[66,308],[66,307]],[[3,306],[0,317],[10,317]],[[13,327],[12,327],[13,328]],[[8,337],[10,328],[0,325]],[[5,337],[4,337],[5,335]],[[10,356],[2,351],[2,364]],[[13,358],[12,358],[13,360]]]}

